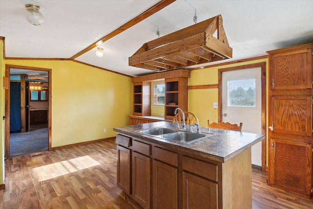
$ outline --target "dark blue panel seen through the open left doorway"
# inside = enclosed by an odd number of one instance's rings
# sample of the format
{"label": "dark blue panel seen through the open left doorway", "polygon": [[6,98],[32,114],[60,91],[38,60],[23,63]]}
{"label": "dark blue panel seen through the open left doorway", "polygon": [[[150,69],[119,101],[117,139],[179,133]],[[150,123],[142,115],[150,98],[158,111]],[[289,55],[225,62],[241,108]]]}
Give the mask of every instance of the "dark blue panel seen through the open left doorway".
{"label": "dark blue panel seen through the open left doorway", "polygon": [[21,132],[21,83],[10,82],[10,133]]}

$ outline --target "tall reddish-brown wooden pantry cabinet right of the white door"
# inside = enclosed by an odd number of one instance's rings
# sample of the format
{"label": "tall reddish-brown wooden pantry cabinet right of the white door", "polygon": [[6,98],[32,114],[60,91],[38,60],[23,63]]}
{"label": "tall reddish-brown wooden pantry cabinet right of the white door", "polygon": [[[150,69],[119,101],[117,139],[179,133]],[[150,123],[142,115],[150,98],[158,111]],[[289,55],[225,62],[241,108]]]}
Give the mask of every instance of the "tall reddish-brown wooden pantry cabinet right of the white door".
{"label": "tall reddish-brown wooden pantry cabinet right of the white door", "polygon": [[311,195],[313,44],[268,51],[268,185]]}

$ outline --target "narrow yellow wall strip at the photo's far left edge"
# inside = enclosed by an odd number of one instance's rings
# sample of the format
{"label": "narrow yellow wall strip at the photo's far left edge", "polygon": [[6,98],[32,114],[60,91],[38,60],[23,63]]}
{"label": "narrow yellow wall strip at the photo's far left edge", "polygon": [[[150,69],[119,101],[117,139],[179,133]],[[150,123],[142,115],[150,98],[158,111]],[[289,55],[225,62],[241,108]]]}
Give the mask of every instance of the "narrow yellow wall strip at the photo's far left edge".
{"label": "narrow yellow wall strip at the photo's far left edge", "polygon": [[[0,116],[4,116],[4,110],[5,110],[5,90],[3,89],[3,79],[2,77],[5,75],[4,70],[4,61],[3,61],[3,41],[0,37],[0,87],[1,87],[1,93],[0,93]],[[4,180],[4,124],[5,120],[1,120],[1,127],[0,127],[0,185],[3,184]]]}

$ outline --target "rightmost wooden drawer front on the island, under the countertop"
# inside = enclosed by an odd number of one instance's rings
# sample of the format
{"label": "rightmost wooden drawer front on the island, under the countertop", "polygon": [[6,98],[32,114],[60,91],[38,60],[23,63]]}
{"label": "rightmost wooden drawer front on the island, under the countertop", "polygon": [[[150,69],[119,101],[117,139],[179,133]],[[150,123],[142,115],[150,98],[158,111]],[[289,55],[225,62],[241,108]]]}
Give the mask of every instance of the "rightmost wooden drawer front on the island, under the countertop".
{"label": "rightmost wooden drawer front on the island, under the countertop", "polygon": [[206,179],[218,181],[218,166],[194,158],[182,156],[182,169],[202,176]]}

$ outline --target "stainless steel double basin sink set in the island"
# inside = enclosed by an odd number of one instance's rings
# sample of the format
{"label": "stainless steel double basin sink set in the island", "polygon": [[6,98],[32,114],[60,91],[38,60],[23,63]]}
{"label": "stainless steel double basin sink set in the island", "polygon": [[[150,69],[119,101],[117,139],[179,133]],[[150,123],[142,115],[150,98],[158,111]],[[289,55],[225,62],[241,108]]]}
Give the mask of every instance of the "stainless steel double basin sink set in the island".
{"label": "stainless steel double basin sink set in the island", "polygon": [[143,129],[143,130],[139,130],[136,132],[145,134],[145,135],[158,137],[161,139],[176,141],[179,143],[185,143],[185,144],[198,141],[201,139],[206,139],[208,137],[212,137],[215,135],[215,134],[209,134],[209,133],[188,132],[188,131],[181,130],[181,129],[173,129],[167,126]]}

